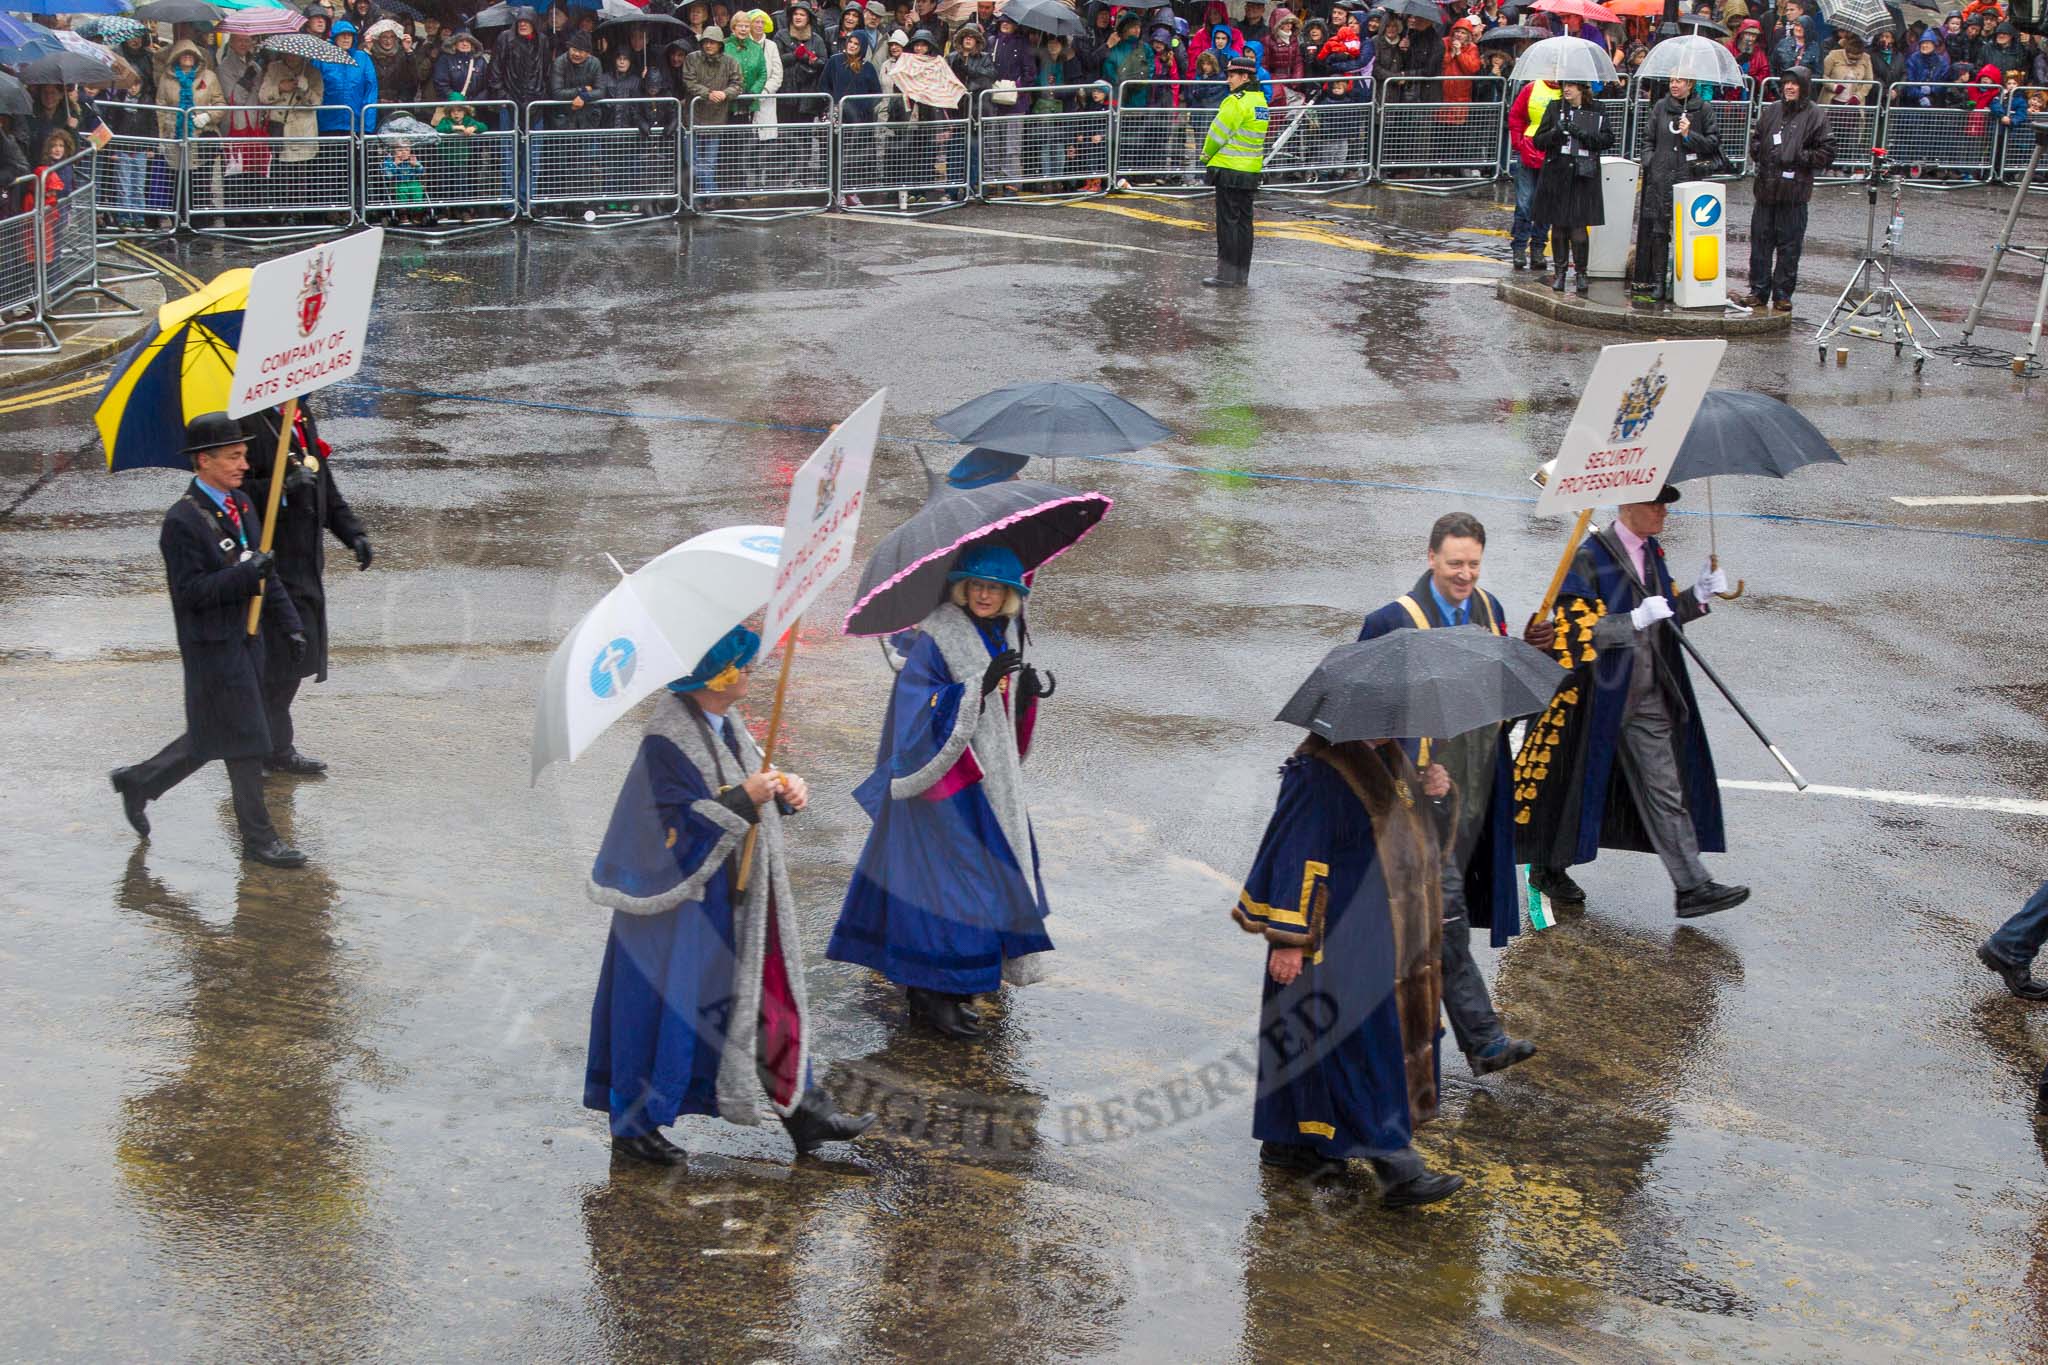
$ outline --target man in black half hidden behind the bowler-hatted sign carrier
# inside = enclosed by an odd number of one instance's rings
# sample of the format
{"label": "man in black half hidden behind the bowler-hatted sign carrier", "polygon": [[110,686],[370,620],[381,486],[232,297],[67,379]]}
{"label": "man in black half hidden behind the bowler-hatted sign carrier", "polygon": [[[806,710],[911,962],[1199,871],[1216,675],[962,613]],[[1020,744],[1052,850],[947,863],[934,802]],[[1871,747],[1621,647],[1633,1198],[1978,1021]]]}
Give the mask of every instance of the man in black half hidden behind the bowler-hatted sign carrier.
{"label": "man in black half hidden behind the bowler-hatted sign carrier", "polygon": [[[279,417],[281,413],[272,409],[246,422],[260,458],[244,487],[258,508],[270,505],[274,469],[270,456],[276,452]],[[285,497],[279,501],[270,546],[276,553],[276,577],[299,612],[305,649],[293,651],[283,616],[264,618],[262,700],[264,722],[270,726],[270,753],[262,761],[266,772],[313,776],[328,769],[319,759],[299,753],[291,724],[291,702],[299,696],[299,679],[328,681],[328,534],[354,551],[358,571],[371,567],[371,538],[334,483],[328,442],[319,440],[319,426],[301,401],[299,417],[293,422],[291,452],[285,456]]]}

